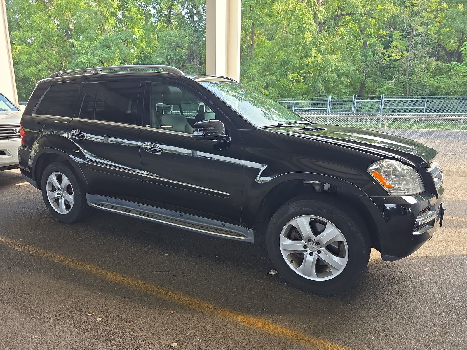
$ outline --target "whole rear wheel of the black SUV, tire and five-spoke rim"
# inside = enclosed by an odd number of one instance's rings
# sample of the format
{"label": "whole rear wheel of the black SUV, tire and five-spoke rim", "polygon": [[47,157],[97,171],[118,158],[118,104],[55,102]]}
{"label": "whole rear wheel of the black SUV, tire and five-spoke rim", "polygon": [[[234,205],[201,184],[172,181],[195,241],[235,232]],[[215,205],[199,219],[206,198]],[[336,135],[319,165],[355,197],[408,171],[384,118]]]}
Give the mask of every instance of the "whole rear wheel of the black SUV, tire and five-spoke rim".
{"label": "whole rear wheel of the black SUV, tire and five-spoke rim", "polygon": [[64,163],[54,162],[45,168],[41,188],[45,206],[59,221],[78,221],[91,209],[78,178]]}

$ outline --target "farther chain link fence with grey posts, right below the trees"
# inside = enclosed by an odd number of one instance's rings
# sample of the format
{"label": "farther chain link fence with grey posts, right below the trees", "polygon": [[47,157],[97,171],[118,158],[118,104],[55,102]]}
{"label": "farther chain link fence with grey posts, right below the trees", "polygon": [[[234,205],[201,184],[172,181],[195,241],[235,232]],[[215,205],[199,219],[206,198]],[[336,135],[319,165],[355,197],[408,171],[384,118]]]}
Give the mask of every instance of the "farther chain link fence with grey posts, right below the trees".
{"label": "farther chain link fence with grey posts, right below the trees", "polygon": [[279,101],[296,113],[466,113],[466,96],[407,98],[404,96],[348,96]]}

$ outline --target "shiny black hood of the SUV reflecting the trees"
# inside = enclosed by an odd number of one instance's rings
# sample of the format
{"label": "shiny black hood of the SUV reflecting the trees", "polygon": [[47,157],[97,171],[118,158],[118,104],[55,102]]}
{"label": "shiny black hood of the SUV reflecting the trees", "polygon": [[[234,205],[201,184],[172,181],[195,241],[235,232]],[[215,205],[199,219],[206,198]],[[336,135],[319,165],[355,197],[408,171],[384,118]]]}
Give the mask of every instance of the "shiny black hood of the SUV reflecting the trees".
{"label": "shiny black hood of the SUV reflecting the trees", "polygon": [[417,168],[429,168],[430,161],[438,154],[433,148],[414,140],[354,127],[313,124],[268,130],[397,158]]}

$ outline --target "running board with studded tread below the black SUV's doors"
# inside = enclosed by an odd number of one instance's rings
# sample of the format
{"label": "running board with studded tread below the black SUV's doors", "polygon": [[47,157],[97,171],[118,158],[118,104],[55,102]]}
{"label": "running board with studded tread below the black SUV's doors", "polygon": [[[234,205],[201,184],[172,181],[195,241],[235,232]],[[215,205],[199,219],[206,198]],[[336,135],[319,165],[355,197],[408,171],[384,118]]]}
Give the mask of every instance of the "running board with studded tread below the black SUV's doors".
{"label": "running board with studded tread below the black SUV's doors", "polygon": [[88,205],[129,217],[180,227],[209,236],[253,242],[253,230],[205,217],[134,203],[113,197],[86,194]]}

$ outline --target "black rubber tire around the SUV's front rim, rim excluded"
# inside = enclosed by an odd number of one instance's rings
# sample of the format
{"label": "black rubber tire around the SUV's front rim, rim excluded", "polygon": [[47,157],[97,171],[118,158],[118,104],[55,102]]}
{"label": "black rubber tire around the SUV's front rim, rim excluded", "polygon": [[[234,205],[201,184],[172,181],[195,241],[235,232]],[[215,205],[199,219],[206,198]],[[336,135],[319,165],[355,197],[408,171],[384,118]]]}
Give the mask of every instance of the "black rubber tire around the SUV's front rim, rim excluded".
{"label": "black rubber tire around the SUV's front rim, rim excluded", "polygon": [[[330,280],[310,280],[285,262],[279,245],[284,226],[301,215],[322,217],[336,226],[347,241],[347,265]],[[297,196],[284,203],[271,218],[266,234],[269,257],[291,285],[315,294],[338,294],[360,280],[368,266],[371,243],[363,220],[350,206],[326,195]],[[310,253],[311,254],[311,253]]]}

